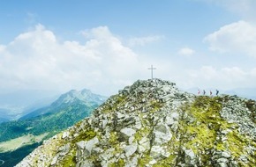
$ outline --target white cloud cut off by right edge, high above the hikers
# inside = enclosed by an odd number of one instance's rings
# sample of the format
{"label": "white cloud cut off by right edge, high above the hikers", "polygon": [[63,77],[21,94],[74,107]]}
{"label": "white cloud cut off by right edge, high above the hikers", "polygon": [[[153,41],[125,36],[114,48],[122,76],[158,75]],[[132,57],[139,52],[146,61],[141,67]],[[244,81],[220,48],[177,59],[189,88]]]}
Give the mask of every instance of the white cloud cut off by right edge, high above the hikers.
{"label": "white cloud cut off by right edge, high above the hikers", "polygon": [[256,26],[245,21],[238,21],[222,26],[215,33],[204,39],[210,49],[219,52],[248,54],[256,57]]}

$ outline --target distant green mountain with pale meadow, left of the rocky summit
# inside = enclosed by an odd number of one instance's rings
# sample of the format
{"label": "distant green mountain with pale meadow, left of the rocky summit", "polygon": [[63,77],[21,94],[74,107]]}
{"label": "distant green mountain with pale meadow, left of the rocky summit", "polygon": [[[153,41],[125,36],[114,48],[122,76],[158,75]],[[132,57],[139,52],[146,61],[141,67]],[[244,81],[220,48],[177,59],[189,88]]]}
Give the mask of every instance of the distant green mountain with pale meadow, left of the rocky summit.
{"label": "distant green mountain with pale meadow, left of the rocky summit", "polygon": [[[42,140],[89,116],[105,99],[90,91],[69,91],[52,105],[29,113],[21,120],[0,124],[0,159],[4,160],[4,166],[19,163]],[[17,156],[20,149],[23,154]]]}

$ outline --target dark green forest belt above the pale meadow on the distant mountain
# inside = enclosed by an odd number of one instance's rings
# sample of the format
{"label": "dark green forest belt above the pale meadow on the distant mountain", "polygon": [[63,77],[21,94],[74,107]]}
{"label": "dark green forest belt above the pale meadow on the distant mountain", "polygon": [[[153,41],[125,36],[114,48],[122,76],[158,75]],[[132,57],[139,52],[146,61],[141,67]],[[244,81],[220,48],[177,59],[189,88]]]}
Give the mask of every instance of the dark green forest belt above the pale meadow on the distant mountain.
{"label": "dark green forest belt above the pale meadow on the distant mountain", "polygon": [[0,142],[9,141],[25,134],[44,134],[52,136],[75,122],[87,117],[96,105],[76,104],[55,108],[55,111],[45,113],[28,120],[15,120],[0,124]]}

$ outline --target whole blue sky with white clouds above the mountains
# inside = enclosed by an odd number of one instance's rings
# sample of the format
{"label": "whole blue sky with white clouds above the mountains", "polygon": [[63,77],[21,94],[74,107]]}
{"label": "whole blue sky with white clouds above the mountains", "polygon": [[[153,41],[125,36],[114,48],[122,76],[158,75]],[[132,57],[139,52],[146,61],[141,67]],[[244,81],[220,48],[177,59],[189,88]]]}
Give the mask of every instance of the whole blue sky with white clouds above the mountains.
{"label": "whole blue sky with white clouds above the mountains", "polygon": [[0,2],[0,90],[117,93],[155,77],[255,88],[253,0]]}

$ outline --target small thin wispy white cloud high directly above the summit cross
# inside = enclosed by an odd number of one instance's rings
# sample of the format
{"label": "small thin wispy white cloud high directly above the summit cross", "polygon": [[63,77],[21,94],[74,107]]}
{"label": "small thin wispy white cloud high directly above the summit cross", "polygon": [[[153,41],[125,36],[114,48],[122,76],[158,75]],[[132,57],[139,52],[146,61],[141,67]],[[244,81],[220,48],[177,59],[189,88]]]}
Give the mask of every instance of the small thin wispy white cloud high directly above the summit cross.
{"label": "small thin wispy white cloud high directly above the summit cross", "polygon": [[145,46],[148,43],[153,43],[159,40],[162,40],[164,37],[159,36],[159,35],[154,35],[154,36],[147,36],[147,37],[136,37],[132,38],[128,41],[129,46]]}

